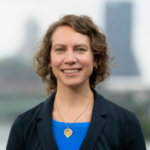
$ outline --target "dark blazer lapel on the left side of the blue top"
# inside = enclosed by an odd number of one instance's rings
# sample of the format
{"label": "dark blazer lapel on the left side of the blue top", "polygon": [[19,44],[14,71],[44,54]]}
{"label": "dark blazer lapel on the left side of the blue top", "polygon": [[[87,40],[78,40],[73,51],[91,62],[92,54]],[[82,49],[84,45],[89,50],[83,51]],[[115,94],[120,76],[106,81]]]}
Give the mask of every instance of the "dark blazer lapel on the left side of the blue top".
{"label": "dark blazer lapel on the left side of the blue top", "polygon": [[43,150],[58,150],[57,144],[53,137],[51,118],[55,94],[52,94],[43,104],[40,114],[38,115],[38,132]]}

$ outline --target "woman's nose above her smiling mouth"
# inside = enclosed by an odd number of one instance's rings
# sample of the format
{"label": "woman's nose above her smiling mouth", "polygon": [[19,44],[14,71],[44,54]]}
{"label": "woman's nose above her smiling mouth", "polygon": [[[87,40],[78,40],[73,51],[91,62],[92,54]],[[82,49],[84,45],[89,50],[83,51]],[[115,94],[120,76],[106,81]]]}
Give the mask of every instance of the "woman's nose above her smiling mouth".
{"label": "woman's nose above her smiling mouth", "polygon": [[66,58],[64,60],[64,63],[66,64],[74,64],[77,62],[76,56],[74,51],[70,50],[66,53]]}

